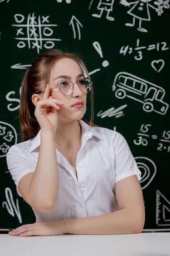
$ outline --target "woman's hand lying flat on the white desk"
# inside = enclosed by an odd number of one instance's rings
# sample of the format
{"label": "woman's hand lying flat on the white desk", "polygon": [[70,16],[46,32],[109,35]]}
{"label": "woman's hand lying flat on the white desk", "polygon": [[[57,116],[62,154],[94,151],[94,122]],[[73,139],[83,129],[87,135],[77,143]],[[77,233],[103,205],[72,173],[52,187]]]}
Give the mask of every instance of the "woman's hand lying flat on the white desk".
{"label": "woman's hand lying flat on the white desk", "polygon": [[11,236],[57,236],[63,235],[64,220],[56,222],[35,222],[22,225],[9,232]]}

